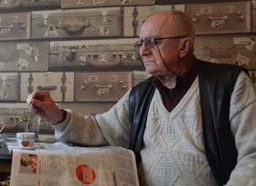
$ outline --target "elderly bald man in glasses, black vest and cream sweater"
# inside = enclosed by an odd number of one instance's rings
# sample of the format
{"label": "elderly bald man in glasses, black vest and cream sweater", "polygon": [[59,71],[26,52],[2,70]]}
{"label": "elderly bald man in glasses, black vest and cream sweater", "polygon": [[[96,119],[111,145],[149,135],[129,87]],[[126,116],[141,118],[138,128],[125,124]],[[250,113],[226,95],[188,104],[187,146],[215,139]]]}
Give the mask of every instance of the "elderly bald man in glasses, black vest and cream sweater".
{"label": "elderly bald man in glasses, black vest and cream sweater", "polygon": [[56,138],[134,150],[140,185],[256,185],[256,91],[246,70],[197,60],[192,21],[158,12],[135,49],[153,76],[110,111],[60,110],[46,92],[29,95]]}

